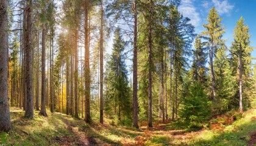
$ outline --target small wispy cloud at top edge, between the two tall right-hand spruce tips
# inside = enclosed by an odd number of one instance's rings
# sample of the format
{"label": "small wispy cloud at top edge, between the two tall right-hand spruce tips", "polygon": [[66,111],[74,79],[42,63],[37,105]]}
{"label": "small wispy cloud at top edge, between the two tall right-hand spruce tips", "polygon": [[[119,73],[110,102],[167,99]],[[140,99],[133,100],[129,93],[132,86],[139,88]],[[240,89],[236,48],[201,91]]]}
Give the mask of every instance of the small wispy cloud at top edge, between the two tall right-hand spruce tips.
{"label": "small wispy cloud at top edge, between the two tall right-hand spruce tips", "polygon": [[216,10],[218,10],[219,14],[222,15],[224,13],[229,14],[229,12],[233,9],[234,5],[230,4],[229,1],[224,0],[212,0]]}

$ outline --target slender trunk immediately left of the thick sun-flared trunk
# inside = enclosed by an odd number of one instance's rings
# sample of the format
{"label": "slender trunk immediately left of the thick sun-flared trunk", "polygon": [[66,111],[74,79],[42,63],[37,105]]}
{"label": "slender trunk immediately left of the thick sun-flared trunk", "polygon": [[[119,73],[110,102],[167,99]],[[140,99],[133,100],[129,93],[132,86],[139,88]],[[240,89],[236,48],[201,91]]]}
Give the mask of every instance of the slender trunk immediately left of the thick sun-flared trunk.
{"label": "slender trunk immediately left of the thick sun-flared trunk", "polygon": [[75,32],[75,52],[74,52],[74,113],[75,113],[75,117],[79,117],[78,116],[78,46],[77,46],[77,43],[78,43],[78,30],[76,30]]}

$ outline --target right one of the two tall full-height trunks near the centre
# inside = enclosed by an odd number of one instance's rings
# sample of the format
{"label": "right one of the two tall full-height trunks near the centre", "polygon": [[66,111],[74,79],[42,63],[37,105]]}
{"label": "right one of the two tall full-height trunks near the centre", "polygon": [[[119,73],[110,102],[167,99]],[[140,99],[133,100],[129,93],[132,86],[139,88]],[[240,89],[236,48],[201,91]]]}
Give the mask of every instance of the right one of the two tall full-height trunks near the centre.
{"label": "right one of the two tall full-height trunks near the centre", "polygon": [[148,117],[148,127],[153,127],[152,125],[152,15],[153,15],[153,1],[150,1],[150,14],[149,14],[149,117]]}

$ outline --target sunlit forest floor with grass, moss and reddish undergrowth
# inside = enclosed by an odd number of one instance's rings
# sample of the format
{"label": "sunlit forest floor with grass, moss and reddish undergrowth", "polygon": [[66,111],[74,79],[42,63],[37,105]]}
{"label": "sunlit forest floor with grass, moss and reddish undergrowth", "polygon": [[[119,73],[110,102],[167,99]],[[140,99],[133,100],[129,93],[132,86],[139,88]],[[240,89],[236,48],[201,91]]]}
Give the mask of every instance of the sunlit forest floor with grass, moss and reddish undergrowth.
{"label": "sunlit forest floor with grass, moss and reddish undergrowth", "polygon": [[0,145],[256,145],[256,109],[244,112],[230,122],[227,115],[210,120],[208,128],[188,132],[174,122],[146,122],[140,129],[111,124],[88,125],[82,119],[62,113],[49,113],[29,120],[24,111],[11,108],[12,130],[0,133]]}

